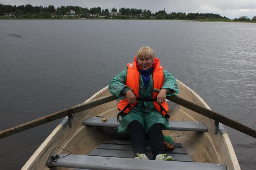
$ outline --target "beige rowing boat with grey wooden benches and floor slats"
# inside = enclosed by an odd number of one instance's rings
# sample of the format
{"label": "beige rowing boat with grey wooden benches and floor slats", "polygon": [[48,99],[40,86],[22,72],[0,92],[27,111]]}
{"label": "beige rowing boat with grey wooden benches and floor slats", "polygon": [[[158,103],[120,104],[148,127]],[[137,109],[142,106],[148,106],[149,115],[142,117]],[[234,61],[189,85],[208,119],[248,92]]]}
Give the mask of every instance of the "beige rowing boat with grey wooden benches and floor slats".
{"label": "beige rowing boat with grey wooden benches and floor slats", "polygon": [[[178,80],[177,83],[180,91],[177,96],[210,109],[193,90]],[[108,87],[105,87],[85,102],[109,94]],[[228,134],[221,123],[216,128],[214,120],[170,101],[167,103],[171,130],[163,129],[163,134],[174,140],[172,144],[176,146],[176,151],[166,152],[172,155],[174,161],[131,159],[134,156],[129,140],[111,139],[102,133],[104,128],[101,127],[114,129],[118,126],[116,119],[113,119],[119,112],[118,102],[117,99],[81,111],[71,120],[68,117],[63,119],[22,169],[159,169],[159,166],[161,169],[179,170],[240,169]],[[106,118],[106,123],[96,116]],[[60,156],[68,154],[62,149],[55,149],[57,147],[70,151],[71,155],[50,163],[51,153]],[[150,155],[149,146],[147,150]]]}

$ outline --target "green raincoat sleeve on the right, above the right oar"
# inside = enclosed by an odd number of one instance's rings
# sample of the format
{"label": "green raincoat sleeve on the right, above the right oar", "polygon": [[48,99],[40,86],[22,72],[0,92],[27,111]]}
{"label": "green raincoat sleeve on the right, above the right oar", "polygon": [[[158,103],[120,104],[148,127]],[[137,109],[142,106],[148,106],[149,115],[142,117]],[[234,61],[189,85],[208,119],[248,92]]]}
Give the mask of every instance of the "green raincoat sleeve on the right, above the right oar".
{"label": "green raincoat sleeve on the right, above the right oar", "polygon": [[[163,72],[164,72],[164,82],[163,82],[162,88],[172,89],[171,93],[167,93],[167,96],[178,94],[179,93],[178,85],[173,75],[166,70],[163,70]],[[173,90],[174,90],[174,93],[172,93]]]}

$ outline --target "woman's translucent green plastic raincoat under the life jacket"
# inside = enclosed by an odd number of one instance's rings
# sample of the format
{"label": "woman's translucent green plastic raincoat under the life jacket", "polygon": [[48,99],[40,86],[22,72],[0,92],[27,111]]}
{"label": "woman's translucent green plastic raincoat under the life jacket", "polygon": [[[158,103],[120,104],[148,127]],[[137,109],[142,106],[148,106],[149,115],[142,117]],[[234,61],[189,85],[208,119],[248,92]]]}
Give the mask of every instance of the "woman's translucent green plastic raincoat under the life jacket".
{"label": "woman's translucent green plastic raincoat under the life jacket", "polygon": [[[140,72],[140,70],[139,70]],[[168,93],[166,96],[171,96],[179,93],[178,85],[175,78],[168,71],[163,70],[164,74],[164,82],[162,88],[169,88],[175,90],[174,93]],[[124,87],[127,87],[126,84],[127,77],[127,67],[124,71],[122,71],[119,75],[117,75],[114,79],[109,82],[109,91],[112,95],[120,98],[121,100],[125,99],[124,96],[119,96],[121,90]],[[128,87],[131,89],[130,87]],[[153,71],[150,75],[150,82],[148,84],[147,89],[145,90],[143,79],[140,72],[140,84],[139,84],[139,95],[140,98],[148,98],[152,99],[153,97]],[[163,127],[170,128],[169,122],[166,118],[155,109],[152,101],[144,102],[145,109],[143,109],[141,105],[141,101],[137,101],[135,107],[128,112],[126,115],[122,116],[121,124],[118,127],[118,133],[130,133],[130,129],[127,127],[129,123],[133,120],[139,121],[144,129],[145,133],[147,133],[148,129],[155,123],[163,124]]]}

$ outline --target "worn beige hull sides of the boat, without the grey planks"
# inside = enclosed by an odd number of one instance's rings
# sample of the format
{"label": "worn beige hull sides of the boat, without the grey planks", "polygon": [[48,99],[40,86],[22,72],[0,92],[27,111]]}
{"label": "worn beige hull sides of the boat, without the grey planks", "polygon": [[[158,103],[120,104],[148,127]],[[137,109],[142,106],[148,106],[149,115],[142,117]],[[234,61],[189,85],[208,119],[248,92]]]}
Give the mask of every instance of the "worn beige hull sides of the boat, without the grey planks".
{"label": "worn beige hull sides of the boat, without the grey planks", "polygon": [[[210,109],[209,106],[193,90],[182,82],[178,81],[180,93],[178,96],[192,101],[202,107]],[[87,101],[109,95],[108,87],[103,88],[94,94]],[[72,154],[88,155],[93,149],[109,137],[103,135],[95,126],[84,126],[82,122],[88,117],[97,115],[102,117],[116,117],[118,101],[112,101],[100,106],[76,113],[72,120],[72,128],[58,125],[54,131],[47,137],[42,145],[31,156],[23,166],[25,169],[50,169],[46,163],[50,157],[51,151],[56,147],[61,147],[71,151]],[[208,132],[191,132],[191,131],[170,131],[164,130],[166,136],[172,136],[175,142],[182,143],[183,148],[194,162],[219,163],[226,164],[227,170],[240,170],[236,154],[228,137],[223,133],[221,136],[217,133],[214,135],[214,120],[211,120],[201,114],[191,111],[178,105],[171,113],[170,120],[179,121],[202,121],[208,128]],[[55,150],[56,153],[65,153],[63,150]],[[55,169],[73,169],[55,167]]]}

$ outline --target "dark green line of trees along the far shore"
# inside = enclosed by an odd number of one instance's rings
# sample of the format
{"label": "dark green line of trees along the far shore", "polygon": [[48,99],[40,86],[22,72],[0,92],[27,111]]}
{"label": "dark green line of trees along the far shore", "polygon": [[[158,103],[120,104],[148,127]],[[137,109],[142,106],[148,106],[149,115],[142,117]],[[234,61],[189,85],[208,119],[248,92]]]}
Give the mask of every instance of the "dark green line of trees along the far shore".
{"label": "dark green line of trees along the far shore", "polygon": [[[27,5],[3,5],[0,4],[0,16],[4,15],[4,13],[13,13],[20,18],[52,18],[51,13],[56,13],[55,18],[62,18],[62,15],[65,15],[70,10],[76,11],[77,14],[81,16],[81,18],[87,17],[87,13],[90,14],[99,14],[103,13],[109,15],[110,12],[117,12],[117,9],[114,7],[112,9],[101,9],[101,7],[95,8],[82,8],[80,6],[61,6],[55,8],[53,5],[49,5],[48,7],[43,6],[32,6],[30,4]],[[226,19],[227,17],[222,17],[219,14],[210,14],[210,13],[188,13],[185,12],[172,12],[167,14],[164,10],[159,10],[158,12],[152,13],[151,10],[142,10],[136,8],[120,8],[119,12],[122,13],[122,16],[113,16],[113,18],[130,18],[129,16],[137,16],[140,19],[147,19],[154,17],[156,19],[188,19],[188,20],[198,20],[198,19]],[[106,17],[109,18],[109,17]],[[230,19],[229,19],[230,20]],[[235,21],[256,21],[256,17],[253,17],[252,20],[247,16],[242,16],[240,18],[235,18]]]}

